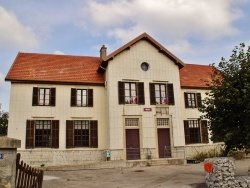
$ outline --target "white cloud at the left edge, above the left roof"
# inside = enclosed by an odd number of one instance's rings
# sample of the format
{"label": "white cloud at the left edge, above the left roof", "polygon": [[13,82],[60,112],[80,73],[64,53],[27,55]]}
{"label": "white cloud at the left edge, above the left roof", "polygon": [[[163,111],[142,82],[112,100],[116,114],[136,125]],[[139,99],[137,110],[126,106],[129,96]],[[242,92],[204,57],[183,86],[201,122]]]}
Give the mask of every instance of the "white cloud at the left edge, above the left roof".
{"label": "white cloud at the left edge, above the left roof", "polygon": [[22,25],[15,14],[0,6],[1,48],[35,48],[39,46],[36,34],[30,27]]}

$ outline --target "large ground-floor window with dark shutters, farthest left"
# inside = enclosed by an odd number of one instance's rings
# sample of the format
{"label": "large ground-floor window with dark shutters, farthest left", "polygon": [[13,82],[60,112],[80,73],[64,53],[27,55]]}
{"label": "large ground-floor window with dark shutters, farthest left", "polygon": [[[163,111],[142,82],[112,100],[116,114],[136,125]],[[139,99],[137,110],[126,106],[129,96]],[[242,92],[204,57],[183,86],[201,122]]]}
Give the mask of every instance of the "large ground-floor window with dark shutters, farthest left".
{"label": "large ground-floor window with dark shutters, farthest left", "polygon": [[59,120],[27,120],[26,148],[59,148]]}

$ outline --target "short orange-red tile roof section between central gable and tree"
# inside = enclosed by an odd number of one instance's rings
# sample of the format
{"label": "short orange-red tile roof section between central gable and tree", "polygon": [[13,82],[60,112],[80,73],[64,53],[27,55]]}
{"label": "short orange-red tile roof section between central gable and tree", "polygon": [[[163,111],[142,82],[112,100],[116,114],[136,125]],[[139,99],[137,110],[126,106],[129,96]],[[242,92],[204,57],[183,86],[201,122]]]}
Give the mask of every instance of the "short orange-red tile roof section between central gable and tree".
{"label": "short orange-red tile roof section between central gable and tree", "polygon": [[186,64],[180,69],[181,87],[207,88],[213,70],[213,66]]}

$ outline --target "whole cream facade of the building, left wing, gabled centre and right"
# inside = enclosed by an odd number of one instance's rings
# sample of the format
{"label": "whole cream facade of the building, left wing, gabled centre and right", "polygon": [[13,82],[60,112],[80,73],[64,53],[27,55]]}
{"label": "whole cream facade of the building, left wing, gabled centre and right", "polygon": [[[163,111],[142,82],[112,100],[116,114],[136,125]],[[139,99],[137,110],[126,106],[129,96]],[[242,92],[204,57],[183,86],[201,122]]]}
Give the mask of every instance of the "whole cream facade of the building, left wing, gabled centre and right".
{"label": "whole cream facade of the building, left wing, gabled centre and right", "polygon": [[[143,62],[149,65],[146,71],[141,68]],[[111,160],[147,159],[149,154],[155,159],[185,158],[183,121],[198,119],[201,113],[197,108],[185,108],[184,92],[201,93],[203,98],[208,90],[181,89],[178,63],[161,53],[148,40],[134,42],[108,59],[107,66],[102,69],[103,86],[84,83],[11,83],[8,136],[21,140],[19,151],[24,161],[34,165],[81,164],[105,160],[105,150],[111,151]],[[144,103],[119,104],[119,82],[143,83]],[[174,104],[152,104],[151,83],[164,86],[172,84]],[[34,87],[56,88],[55,106],[32,106]],[[72,107],[72,88],[92,89],[93,107]],[[27,149],[27,120],[59,120],[58,148]],[[97,121],[98,147],[67,148],[67,120]],[[134,148],[132,137],[136,137],[135,142],[138,142]],[[164,148],[160,147],[161,144],[165,144]],[[212,142],[209,141],[207,145],[211,147]],[[166,150],[168,153],[165,156]],[[132,156],[133,151],[138,152],[135,158]],[[128,155],[129,152],[132,154]]]}

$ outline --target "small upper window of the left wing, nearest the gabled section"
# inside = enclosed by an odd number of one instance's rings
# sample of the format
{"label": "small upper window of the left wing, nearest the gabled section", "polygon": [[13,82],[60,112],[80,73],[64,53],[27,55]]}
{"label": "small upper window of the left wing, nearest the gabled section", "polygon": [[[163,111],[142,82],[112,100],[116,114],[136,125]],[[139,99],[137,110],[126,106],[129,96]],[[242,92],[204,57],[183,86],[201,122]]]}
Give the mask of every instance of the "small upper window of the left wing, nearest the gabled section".
{"label": "small upper window of the left wing, nearest the gabled section", "polygon": [[71,106],[93,107],[93,89],[71,88]]}

